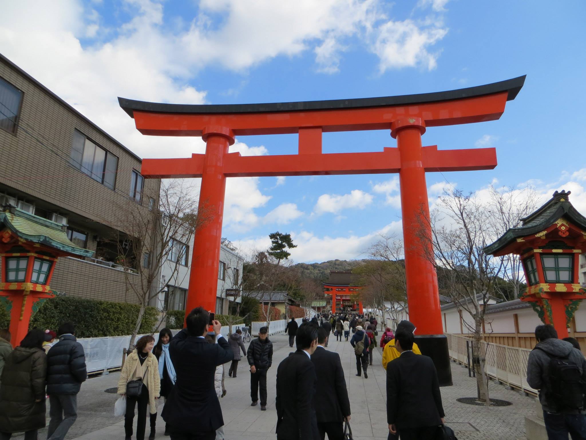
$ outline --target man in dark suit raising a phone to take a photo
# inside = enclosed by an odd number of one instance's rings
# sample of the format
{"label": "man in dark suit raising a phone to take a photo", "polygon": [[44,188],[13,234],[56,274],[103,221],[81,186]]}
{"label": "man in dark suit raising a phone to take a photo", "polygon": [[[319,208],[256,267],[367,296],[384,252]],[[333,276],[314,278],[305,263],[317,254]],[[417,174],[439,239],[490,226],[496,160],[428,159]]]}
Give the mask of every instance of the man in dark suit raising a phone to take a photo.
{"label": "man in dark suit raising a phone to take a photo", "polygon": [[217,344],[205,340],[210,314],[203,307],[193,309],[181,330],[169,343],[176,382],[163,407],[162,417],[169,424],[171,440],[214,440],[216,429],[224,425],[222,408],[214,389],[218,365],[234,358],[220,334],[222,324],[213,321]]}

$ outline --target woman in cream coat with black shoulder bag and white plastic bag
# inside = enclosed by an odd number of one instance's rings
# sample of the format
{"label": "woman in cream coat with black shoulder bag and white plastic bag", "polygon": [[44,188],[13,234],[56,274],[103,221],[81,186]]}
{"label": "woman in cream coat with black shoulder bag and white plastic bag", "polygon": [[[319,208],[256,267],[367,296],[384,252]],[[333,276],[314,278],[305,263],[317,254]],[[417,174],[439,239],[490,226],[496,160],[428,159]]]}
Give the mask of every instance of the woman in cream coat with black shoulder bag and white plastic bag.
{"label": "woman in cream coat with black shoulder bag and white plastic bag", "polygon": [[[134,407],[138,404],[137,440],[144,440],[145,427],[147,425],[147,405],[151,408],[151,417],[156,418],[155,401],[161,391],[161,378],[159,377],[159,364],[152,354],[155,346],[155,338],[147,335],[137,342],[137,348],[126,358],[120,380],[118,380],[118,394],[126,394],[126,384],[132,380],[142,379],[142,393],[137,397],[127,397],[126,415],[124,416],[125,439],[132,436],[132,421],[134,419]],[[155,431],[151,429],[149,440],[155,438]]]}

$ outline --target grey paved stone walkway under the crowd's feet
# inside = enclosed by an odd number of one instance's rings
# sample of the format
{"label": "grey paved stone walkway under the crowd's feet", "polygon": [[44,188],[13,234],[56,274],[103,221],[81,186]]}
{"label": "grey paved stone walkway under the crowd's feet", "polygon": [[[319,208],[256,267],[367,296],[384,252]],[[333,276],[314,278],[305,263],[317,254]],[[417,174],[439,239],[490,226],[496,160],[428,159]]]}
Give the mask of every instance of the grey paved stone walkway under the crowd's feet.
{"label": "grey paved stone walkway under the crowd's feet", "polygon": [[[250,407],[250,374],[246,361],[239,365],[237,378],[226,375],[226,397],[220,399],[222,405],[226,440],[274,440],[277,413],[275,411],[275,375],[277,365],[290,353],[287,336],[275,335],[273,366],[268,372],[267,411],[260,406]],[[346,373],[346,384],[352,408],[352,431],[355,440],[387,438],[386,422],[386,375],[381,365],[381,348],[374,353],[374,365],[369,367],[369,378],[356,377],[356,360],[350,343],[336,342],[331,337],[328,350],[340,354]],[[532,397],[524,397],[517,391],[505,390],[503,385],[489,384],[493,398],[513,402],[512,406],[500,408],[477,407],[456,402],[459,397],[476,395],[475,379],[468,377],[468,370],[452,364],[454,385],[442,387],[442,401],[446,412],[446,424],[454,429],[460,440],[512,440],[523,437],[524,416],[534,410]],[[79,395],[79,417],[66,439],[79,440],[118,440],[124,438],[124,420],[114,418],[116,395],[104,392],[114,387],[118,373],[88,380]],[[159,408],[160,412],[160,408]],[[48,412],[47,412],[48,414]],[[163,436],[164,422],[158,419],[157,439]],[[39,438],[45,438],[46,429]],[[148,435],[148,421],[147,421]],[[134,437],[133,437],[134,438]]]}

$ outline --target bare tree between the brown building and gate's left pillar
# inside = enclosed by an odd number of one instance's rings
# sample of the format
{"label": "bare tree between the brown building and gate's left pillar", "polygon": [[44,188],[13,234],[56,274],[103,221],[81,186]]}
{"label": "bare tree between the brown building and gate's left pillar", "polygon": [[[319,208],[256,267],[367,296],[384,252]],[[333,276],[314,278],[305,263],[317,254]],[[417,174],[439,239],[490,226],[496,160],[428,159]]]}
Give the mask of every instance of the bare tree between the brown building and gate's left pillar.
{"label": "bare tree between the brown building and gate's left pillar", "polygon": [[130,347],[134,346],[147,306],[166,287],[159,282],[162,266],[169,266],[169,279],[173,279],[180,266],[191,263],[187,243],[202,222],[193,194],[193,188],[182,180],[165,181],[158,204],[148,215],[134,201],[117,207],[125,218],[124,229],[117,228],[109,244],[118,255],[117,262],[125,266],[127,292],[134,295],[140,306]]}

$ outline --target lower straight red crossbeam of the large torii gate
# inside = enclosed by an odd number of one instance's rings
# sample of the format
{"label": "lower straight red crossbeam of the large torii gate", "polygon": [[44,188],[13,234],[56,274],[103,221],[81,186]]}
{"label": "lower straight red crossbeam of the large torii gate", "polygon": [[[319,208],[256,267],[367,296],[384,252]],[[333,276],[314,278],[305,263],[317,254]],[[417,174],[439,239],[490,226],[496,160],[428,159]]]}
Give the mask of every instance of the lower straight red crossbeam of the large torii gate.
{"label": "lower straight red crossbeam of the large torii gate", "polygon": [[[144,159],[142,175],[150,178],[202,177],[204,154],[190,158]],[[495,148],[439,150],[423,147],[425,171],[492,170],[496,167]],[[399,172],[398,148],[373,153],[287,154],[241,156],[230,153],[224,160],[226,177],[274,177],[335,174],[384,174]]]}

